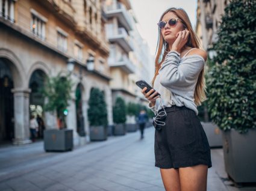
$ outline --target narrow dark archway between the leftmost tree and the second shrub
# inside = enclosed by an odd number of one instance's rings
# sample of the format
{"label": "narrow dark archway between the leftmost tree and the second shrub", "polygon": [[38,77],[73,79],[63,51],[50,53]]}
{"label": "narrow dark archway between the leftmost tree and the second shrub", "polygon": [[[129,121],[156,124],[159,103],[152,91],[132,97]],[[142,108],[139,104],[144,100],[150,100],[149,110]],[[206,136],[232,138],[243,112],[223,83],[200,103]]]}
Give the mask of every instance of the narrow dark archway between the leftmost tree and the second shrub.
{"label": "narrow dark archway between the leftmost tree and the second shrub", "polygon": [[75,90],[75,108],[76,108],[76,132],[80,136],[86,136],[84,130],[84,115],[83,115],[83,85],[78,83]]}

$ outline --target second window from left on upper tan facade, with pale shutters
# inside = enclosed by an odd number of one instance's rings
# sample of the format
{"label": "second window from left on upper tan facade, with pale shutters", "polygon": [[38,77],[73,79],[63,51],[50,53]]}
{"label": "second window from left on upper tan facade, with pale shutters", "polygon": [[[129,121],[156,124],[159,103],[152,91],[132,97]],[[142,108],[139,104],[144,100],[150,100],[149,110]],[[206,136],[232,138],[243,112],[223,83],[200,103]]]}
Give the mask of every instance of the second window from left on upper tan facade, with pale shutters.
{"label": "second window from left on upper tan facade, with pale shutters", "polygon": [[35,10],[31,10],[31,32],[42,40],[45,40],[45,23],[48,20]]}

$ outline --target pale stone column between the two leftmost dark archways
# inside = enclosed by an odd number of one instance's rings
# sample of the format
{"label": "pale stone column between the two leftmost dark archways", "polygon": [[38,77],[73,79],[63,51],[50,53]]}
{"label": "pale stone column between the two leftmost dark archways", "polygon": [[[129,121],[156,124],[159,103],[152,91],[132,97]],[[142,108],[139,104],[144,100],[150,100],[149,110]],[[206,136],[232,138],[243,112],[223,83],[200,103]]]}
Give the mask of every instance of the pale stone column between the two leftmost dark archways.
{"label": "pale stone column between the two leftmost dark archways", "polygon": [[14,145],[28,144],[30,140],[30,89],[12,89],[14,97]]}

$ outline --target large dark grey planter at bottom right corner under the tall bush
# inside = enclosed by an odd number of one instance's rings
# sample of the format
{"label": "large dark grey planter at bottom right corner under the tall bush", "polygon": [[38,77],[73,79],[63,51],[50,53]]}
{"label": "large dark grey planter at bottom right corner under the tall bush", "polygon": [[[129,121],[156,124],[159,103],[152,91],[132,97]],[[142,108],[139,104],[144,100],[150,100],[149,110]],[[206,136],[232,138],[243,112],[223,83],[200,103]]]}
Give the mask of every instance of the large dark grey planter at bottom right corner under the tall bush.
{"label": "large dark grey planter at bottom right corner under the tall bush", "polygon": [[256,183],[256,129],[222,131],[225,169],[236,183]]}

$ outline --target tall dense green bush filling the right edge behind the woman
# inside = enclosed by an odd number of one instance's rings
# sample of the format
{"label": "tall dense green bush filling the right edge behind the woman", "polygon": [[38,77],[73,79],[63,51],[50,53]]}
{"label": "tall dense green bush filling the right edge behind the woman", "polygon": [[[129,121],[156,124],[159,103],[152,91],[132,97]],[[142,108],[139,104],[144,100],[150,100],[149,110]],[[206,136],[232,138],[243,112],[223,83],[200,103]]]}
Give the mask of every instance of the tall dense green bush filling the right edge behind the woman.
{"label": "tall dense green bush filling the right edge behind the woman", "polygon": [[207,77],[208,108],[220,129],[245,133],[256,127],[256,1],[225,8]]}

